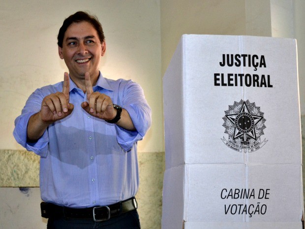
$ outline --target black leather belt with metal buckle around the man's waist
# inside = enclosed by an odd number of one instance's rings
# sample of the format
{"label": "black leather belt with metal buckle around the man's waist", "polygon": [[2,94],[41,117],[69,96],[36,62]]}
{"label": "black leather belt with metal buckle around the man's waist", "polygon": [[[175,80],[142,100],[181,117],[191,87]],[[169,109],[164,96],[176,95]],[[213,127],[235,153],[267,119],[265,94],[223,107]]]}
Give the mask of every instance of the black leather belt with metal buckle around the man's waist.
{"label": "black leather belt with metal buckle around the man's waist", "polygon": [[42,202],[41,216],[44,218],[64,217],[66,219],[94,220],[95,222],[106,221],[111,217],[137,209],[135,197],[111,204],[109,206],[95,206],[89,208],[70,208],[53,203]]}

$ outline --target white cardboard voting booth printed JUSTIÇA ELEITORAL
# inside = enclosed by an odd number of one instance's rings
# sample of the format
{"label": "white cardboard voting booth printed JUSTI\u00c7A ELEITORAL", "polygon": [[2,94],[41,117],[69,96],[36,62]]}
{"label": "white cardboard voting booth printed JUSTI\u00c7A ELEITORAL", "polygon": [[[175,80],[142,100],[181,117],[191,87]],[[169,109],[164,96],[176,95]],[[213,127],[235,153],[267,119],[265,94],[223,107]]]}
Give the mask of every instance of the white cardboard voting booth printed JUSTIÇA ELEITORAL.
{"label": "white cardboard voting booth printed JUSTI\u00c7A ELEITORAL", "polygon": [[295,39],[183,35],[163,78],[162,229],[301,229]]}

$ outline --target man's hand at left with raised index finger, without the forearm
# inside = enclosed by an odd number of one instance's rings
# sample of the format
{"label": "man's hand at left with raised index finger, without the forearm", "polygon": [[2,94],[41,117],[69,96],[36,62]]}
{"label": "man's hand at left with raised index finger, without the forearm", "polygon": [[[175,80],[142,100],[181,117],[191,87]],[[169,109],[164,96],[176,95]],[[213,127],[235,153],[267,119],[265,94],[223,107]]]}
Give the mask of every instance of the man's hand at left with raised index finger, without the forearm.
{"label": "man's hand at left with raised index finger, without the forearm", "polygon": [[48,124],[61,120],[73,111],[73,104],[69,103],[69,74],[64,72],[62,92],[46,96],[41,103],[40,119]]}

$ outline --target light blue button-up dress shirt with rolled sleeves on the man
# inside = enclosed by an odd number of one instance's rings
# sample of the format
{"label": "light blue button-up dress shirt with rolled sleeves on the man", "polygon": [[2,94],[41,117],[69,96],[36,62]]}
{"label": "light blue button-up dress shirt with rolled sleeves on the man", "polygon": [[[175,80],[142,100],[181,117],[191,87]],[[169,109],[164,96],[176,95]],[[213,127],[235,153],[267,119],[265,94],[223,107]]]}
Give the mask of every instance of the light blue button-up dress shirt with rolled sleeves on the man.
{"label": "light blue button-up dress shirt with rolled sleeves on the man", "polygon": [[46,202],[67,207],[109,205],[135,196],[139,186],[137,141],[151,126],[151,108],[142,88],[131,80],[100,74],[94,92],[126,109],[137,131],[95,118],[81,107],[87,95],[70,79],[71,115],[51,124],[37,142],[27,142],[30,116],[44,97],[62,91],[62,83],[37,89],[15,120],[15,139],[40,156],[40,191]]}

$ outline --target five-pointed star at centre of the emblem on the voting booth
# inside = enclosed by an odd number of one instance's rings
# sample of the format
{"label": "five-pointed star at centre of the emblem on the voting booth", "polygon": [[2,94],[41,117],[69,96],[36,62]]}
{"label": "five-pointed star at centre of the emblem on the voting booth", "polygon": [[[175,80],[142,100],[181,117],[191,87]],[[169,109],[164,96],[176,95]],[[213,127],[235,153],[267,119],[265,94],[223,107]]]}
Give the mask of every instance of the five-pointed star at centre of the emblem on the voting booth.
{"label": "five-pointed star at centre of the emblem on the voting booth", "polygon": [[235,126],[233,139],[236,139],[244,134],[244,138],[246,135],[248,135],[250,138],[255,140],[256,133],[254,127],[264,118],[263,116],[259,115],[251,115],[245,102],[243,103],[243,107],[239,114],[226,115],[226,117]]}

